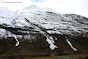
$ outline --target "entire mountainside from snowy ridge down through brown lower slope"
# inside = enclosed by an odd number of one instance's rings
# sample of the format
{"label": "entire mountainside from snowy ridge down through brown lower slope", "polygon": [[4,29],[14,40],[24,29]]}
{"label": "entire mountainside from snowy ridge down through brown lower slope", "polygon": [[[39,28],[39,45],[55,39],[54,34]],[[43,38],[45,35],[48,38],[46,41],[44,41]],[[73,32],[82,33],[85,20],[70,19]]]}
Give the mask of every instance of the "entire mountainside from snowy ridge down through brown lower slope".
{"label": "entire mountainside from snowy ridge down through brown lower slope", "polygon": [[[0,37],[3,40],[9,39],[15,42],[9,43],[10,41],[7,40],[5,44],[10,46],[7,50],[18,46],[10,50],[11,52],[13,50],[27,52],[33,49],[33,51],[41,50],[41,52],[67,51],[68,49],[78,51],[82,48],[80,42],[87,41],[88,38],[88,18],[76,14],[59,14],[52,9],[36,6],[24,8],[20,12],[0,8]],[[77,44],[76,40],[81,41]],[[3,46],[3,44],[0,45]]]}

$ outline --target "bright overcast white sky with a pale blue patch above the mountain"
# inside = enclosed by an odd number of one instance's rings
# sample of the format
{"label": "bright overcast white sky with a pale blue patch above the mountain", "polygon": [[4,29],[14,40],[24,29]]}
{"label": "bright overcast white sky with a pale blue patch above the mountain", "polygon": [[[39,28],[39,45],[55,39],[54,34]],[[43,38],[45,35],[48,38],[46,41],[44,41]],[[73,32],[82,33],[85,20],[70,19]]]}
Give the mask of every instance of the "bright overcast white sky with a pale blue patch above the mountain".
{"label": "bright overcast white sky with a pale blue patch above the mountain", "polygon": [[88,0],[0,0],[0,7],[8,7],[13,11],[33,4],[38,7],[52,8],[59,13],[75,13],[88,17]]}

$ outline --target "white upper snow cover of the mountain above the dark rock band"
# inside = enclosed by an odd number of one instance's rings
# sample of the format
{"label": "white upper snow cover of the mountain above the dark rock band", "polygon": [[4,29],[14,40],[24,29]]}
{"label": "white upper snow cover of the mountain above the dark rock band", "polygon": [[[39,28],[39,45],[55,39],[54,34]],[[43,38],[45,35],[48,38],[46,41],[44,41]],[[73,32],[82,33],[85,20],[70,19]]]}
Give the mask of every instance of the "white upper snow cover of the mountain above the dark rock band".
{"label": "white upper snow cover of the mountain above the dark rock band", "polygon": [[[88,21],[83,21],[86,24],[80,24],[80,20],[76,21],[75,19],[83,19],[83,17],[77,17],[74,15],[74,18],[71,16],[65,16],[63,14],[59,14],[52,9],[48,8],[39,8],[35,6],[31,6],[28,8],[24,8],[20,12],[12,12],[7,8],[0,8],[0,24],[6,24],[11,27],[33,27],[30,23],[28,23],[26,19],[28,19],[31,23],[37,24],[38,26],[46,29],[49,34],[66,34],[66,35],[74,35],[86,33],[88,32]],[[6,11],[3,11],[6,10]],[[3,15],[6,14],[5,15]],[[7,17],[8,14],[13,15]],[[52,29],[52,30],[47,30]],[[35,29],[38,31],[38,29]],[[75,34],[75,36],[77,36]],[[86,36],[85,34],[83,36]]]}

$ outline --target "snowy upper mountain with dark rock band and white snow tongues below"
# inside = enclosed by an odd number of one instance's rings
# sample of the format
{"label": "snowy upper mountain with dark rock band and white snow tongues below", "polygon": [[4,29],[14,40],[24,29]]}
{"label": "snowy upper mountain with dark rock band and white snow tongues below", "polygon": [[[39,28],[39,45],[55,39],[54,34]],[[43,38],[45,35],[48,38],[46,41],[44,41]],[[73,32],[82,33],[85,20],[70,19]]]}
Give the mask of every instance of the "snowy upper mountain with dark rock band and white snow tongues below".
{"label": "snowy upper mountain with dark rock band and white snow tongues below", "polygon": [[15,46],[19,46],[19,38],[30,40],[39,35],[45,37],[51,50],[58,48],[55,40],[61,35],[67,44],[77,51],[68,37],[88,37],[88,18],[76,14],[60,14],[55,10],[34,5],[19,12],[0,8],[1,38],[14,37],[17,41]]}

